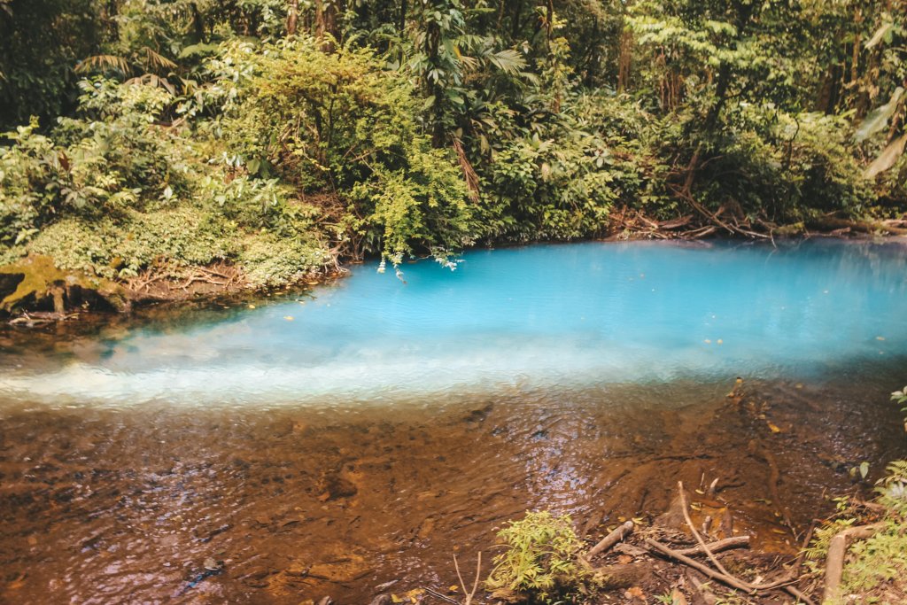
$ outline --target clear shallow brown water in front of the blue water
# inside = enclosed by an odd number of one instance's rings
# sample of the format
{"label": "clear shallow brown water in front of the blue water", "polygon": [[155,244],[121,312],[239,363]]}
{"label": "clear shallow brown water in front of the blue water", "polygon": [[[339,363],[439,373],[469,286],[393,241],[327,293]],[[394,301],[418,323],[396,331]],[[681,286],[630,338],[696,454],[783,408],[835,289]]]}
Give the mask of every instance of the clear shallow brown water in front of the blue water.
{"label": "clear shallow brown water in front of the blue water", "polygon": [[[888,380],[551,387],[278,409],[0,402],[0,601],[365,604],[455,583],[527,509],[580,532],[719,477],[757,545],[907,452]],[[859,386],[858,386],[859,384]],[[781,470],[771,499],[772,452]],[[491,557],[486,554],[485,561]],[[213,564],[212,564],[213,563]],[[208,567],[216,568],[206,571]]]}

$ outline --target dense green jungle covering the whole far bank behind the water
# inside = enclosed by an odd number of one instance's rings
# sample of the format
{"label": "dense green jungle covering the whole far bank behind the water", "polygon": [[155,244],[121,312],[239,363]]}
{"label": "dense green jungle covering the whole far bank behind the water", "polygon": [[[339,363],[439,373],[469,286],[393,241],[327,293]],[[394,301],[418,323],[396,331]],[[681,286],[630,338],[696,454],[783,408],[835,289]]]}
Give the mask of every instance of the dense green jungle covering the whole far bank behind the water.
{"label": "dense green jungle covering the whole far bank behind the water", "polygon": [[897,230],[905,14],[0,0],[0,264],[280,286],[492,242]]}

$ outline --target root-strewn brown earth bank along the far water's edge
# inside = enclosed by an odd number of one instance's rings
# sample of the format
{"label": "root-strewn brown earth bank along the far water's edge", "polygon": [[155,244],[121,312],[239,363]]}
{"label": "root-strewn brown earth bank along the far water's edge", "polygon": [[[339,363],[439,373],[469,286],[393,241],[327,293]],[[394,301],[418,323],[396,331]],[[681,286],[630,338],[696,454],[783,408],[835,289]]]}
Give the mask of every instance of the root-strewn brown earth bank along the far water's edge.
{"label": "root-strewn brown earth bank along the far water's edge", "polygon": [[[789,241],[791,239],[845,238],[898,241],[904,239],[905,220],[852,221],[828,218],[820,230],[794,233],[795,228],[777,229],[760,234],[760,238],[726,231],[727,236],[756,241],[760,239]],[[833,229],[834,228],[834,229]],[[796,228],[799,229],[799,228]],[[604,241],[628,240],[695,240],[715,237],[716,225],[703,226],[691,216],[683,220],[658,221],[647,219],[637,211],[622,210],[610,223]],[[785,235],[786,234],[786,235]],[[551,243],[551,242],[549,242]],[[554,242],[558,243],[558,242]],[[566,243],[566,242],[565,242]],[[523,243],[502,242],[498,246],[521,246]],[[275,250],[276,253],[279,252]],[[341,278],[348,273],[348,262],[336,251],[324,250],[320,263],[307,260],[297,267],[284,268],[278,275],[250,275],[249,269],[235,262],[218,261],[206,265],[177,266],[159,264],[142,270],[135,277],[104,277],[92,272],[57,268],[55,259],[34,255],[0,267],[0,317],[15,325],[34,327],[93,313],[131,313],[138,307],[188,303],[234,304],[256,296],[304,289]],[[317,256],[317,255],[314,255]],[[314,258],[310,255],[309,258]],[[286,259],[259,259],[277,265]],[[256,269],[258,270],[258,269]]]}

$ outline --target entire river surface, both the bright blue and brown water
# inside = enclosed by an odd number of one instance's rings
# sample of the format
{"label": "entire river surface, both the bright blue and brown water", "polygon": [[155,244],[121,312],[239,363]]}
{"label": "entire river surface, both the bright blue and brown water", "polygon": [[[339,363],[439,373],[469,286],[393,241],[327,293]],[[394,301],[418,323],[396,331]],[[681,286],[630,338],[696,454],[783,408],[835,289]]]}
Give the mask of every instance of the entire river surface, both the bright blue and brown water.
{"label": "entire river surface, both the bright blue and brown water", "polygon": [[360,605],[449,586],[452,552],[526,509],[590,531],[704,475],[790,548],[779,515],[802,530],[850,467],[907,453],[887,401],[905,254],[478,251],[406,283],[363,267],[256,308],[0,334],[0,602]]}

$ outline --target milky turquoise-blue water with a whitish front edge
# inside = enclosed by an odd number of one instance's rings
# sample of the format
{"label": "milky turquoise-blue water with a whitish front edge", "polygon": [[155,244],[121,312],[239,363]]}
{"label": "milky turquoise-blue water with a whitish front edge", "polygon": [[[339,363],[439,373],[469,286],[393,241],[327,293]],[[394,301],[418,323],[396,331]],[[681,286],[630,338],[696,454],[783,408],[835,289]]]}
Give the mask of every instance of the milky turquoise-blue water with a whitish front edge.
{"label": "milky turquoise-blue water with a whitish front edge", "polygon": [[[55,405],[385,401],[513,387],[814,376],[907,356],[907,246],[806,240],[475,250],[376,263],[254,308],[135,327],[0,393]],[[887,356],[887,357],[885,357]]]}

